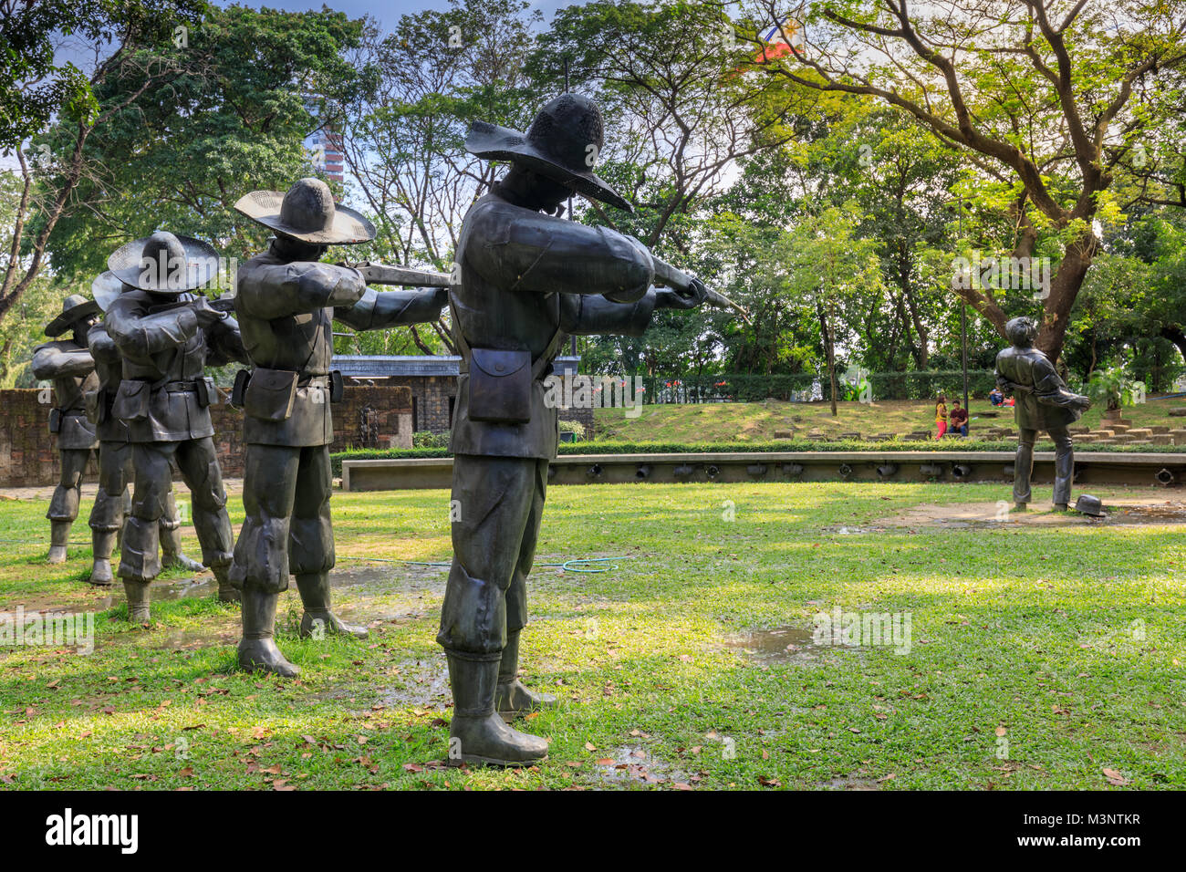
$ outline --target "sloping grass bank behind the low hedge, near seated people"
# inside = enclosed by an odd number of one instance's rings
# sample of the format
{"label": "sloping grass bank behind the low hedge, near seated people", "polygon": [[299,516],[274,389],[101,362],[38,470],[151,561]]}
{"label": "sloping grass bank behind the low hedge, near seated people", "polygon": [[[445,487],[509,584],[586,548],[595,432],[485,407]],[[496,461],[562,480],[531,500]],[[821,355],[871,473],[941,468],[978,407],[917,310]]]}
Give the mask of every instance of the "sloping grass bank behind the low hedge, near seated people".
{"label": "sloping grass bank behind the low hedge, near seated people", "polygon": [[[949,397],[951,400],[954,397]],[[624,409],[594,409],[597,439],[626,441],[709,443],[709,441],[770,441],[774,431],[792,431],[795,438],[805,437],[811,429],[839,434],[859,432],[910,433],[916,429],[935,431],[935,403],[913,400],[886,400],[875,403],[840,402],[837,416],[831,416],[827,402],[731,402],[643,406],[636,418],[627,418]],[[1186,425],[1186,419],[1169,418],[1169,409],[1186,406],[1181,400],[1155,400],[1139,406],[1126,406],[1124,419],[1135,427],[1152,424]],[[999,416],[981,416],[970,426],[970,434],[993,425],[1013,427],[1013,409],[994,409],[984,400],[971,400],[971,416],[997,412]],[[1101,408],[1091,408],[1080,424],[1098,429]]]}

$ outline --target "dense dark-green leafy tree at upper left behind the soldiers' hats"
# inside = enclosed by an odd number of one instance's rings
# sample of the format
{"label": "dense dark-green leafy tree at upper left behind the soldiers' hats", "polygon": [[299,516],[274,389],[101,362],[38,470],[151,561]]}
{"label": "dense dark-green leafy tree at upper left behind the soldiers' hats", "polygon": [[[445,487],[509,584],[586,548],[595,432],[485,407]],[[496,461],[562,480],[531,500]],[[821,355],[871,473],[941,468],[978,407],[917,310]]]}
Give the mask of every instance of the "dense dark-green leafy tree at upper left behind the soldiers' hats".
{"label": "dense dark-green leafy tree at upper left behind the soldiers' hats", "polygon": [[[96,87],[113,107],[84,148],[85,173],[47,250],[59,275],[89,279],[119,244],[158,228],[210,240],[234,257],[267,230],[235,211],[254,189],[313,172],[305,138],[370,87],[345,52],[362,23],[340,12],[211,8],[184,39],[141,47]],[[167,79],[145,70],[173,70]],[[62,133],[58,131],[59,139]]]}

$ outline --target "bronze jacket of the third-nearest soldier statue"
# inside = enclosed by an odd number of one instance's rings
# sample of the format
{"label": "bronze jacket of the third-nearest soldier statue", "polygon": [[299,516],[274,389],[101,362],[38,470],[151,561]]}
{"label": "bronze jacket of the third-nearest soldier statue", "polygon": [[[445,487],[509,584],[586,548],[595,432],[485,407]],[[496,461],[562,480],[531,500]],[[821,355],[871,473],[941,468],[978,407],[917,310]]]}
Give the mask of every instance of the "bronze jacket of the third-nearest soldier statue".
{"label": "bronze jacket of the third-nearest soldier statue", "polygon": [[144,291],[125,291],[104,324],[120,356],[123,380],[111,407],[128,427],[128,441],[172,443],[213,435],[209,405],[213,382],[205,368],[246,361],[234,318],[209,329],[185,303],[161,303]]}

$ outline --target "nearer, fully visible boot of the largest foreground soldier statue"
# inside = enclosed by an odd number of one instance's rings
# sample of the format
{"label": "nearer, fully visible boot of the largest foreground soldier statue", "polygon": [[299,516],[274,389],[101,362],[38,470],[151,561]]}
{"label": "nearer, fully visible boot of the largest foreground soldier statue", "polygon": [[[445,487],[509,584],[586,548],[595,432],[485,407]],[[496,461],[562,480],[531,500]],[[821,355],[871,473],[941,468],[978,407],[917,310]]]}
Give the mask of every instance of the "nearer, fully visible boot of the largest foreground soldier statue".
{"label": "nearer, fully visible boot of the largest foreground soldier statue", "polygon": [[495,711],[498,661],[464,660],[448,654],[453,686],[448,763],[491,766],[530,766],[548,756],[548,743],[511,728]]}

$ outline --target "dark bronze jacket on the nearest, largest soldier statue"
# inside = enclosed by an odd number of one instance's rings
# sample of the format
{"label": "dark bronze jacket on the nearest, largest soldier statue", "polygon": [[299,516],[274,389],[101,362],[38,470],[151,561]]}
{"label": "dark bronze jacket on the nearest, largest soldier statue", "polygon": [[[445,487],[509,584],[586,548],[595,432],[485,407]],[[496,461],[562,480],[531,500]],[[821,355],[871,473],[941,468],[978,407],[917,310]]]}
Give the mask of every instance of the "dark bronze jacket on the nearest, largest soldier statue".
{"label": "dark bronze jacket on the nearest, largest soldier statue", "polygon": [[[554,458],[557,412],[544,403],[542,380],[556,355],[556,339],[562,333],[642,336],[655,310],[655,292],[646,291],[653,278],[649,255],[612,230],[523,209],[489,193],[465,216],[457,262],[461,284],[449,289],[449,303],[454,333],[460,329],[465,342],[452,450]],[[611,303],[604,293],[637,301]],[[473,349],[530,352],[540,377],[531,383],[529,420],[473,420]]]}

